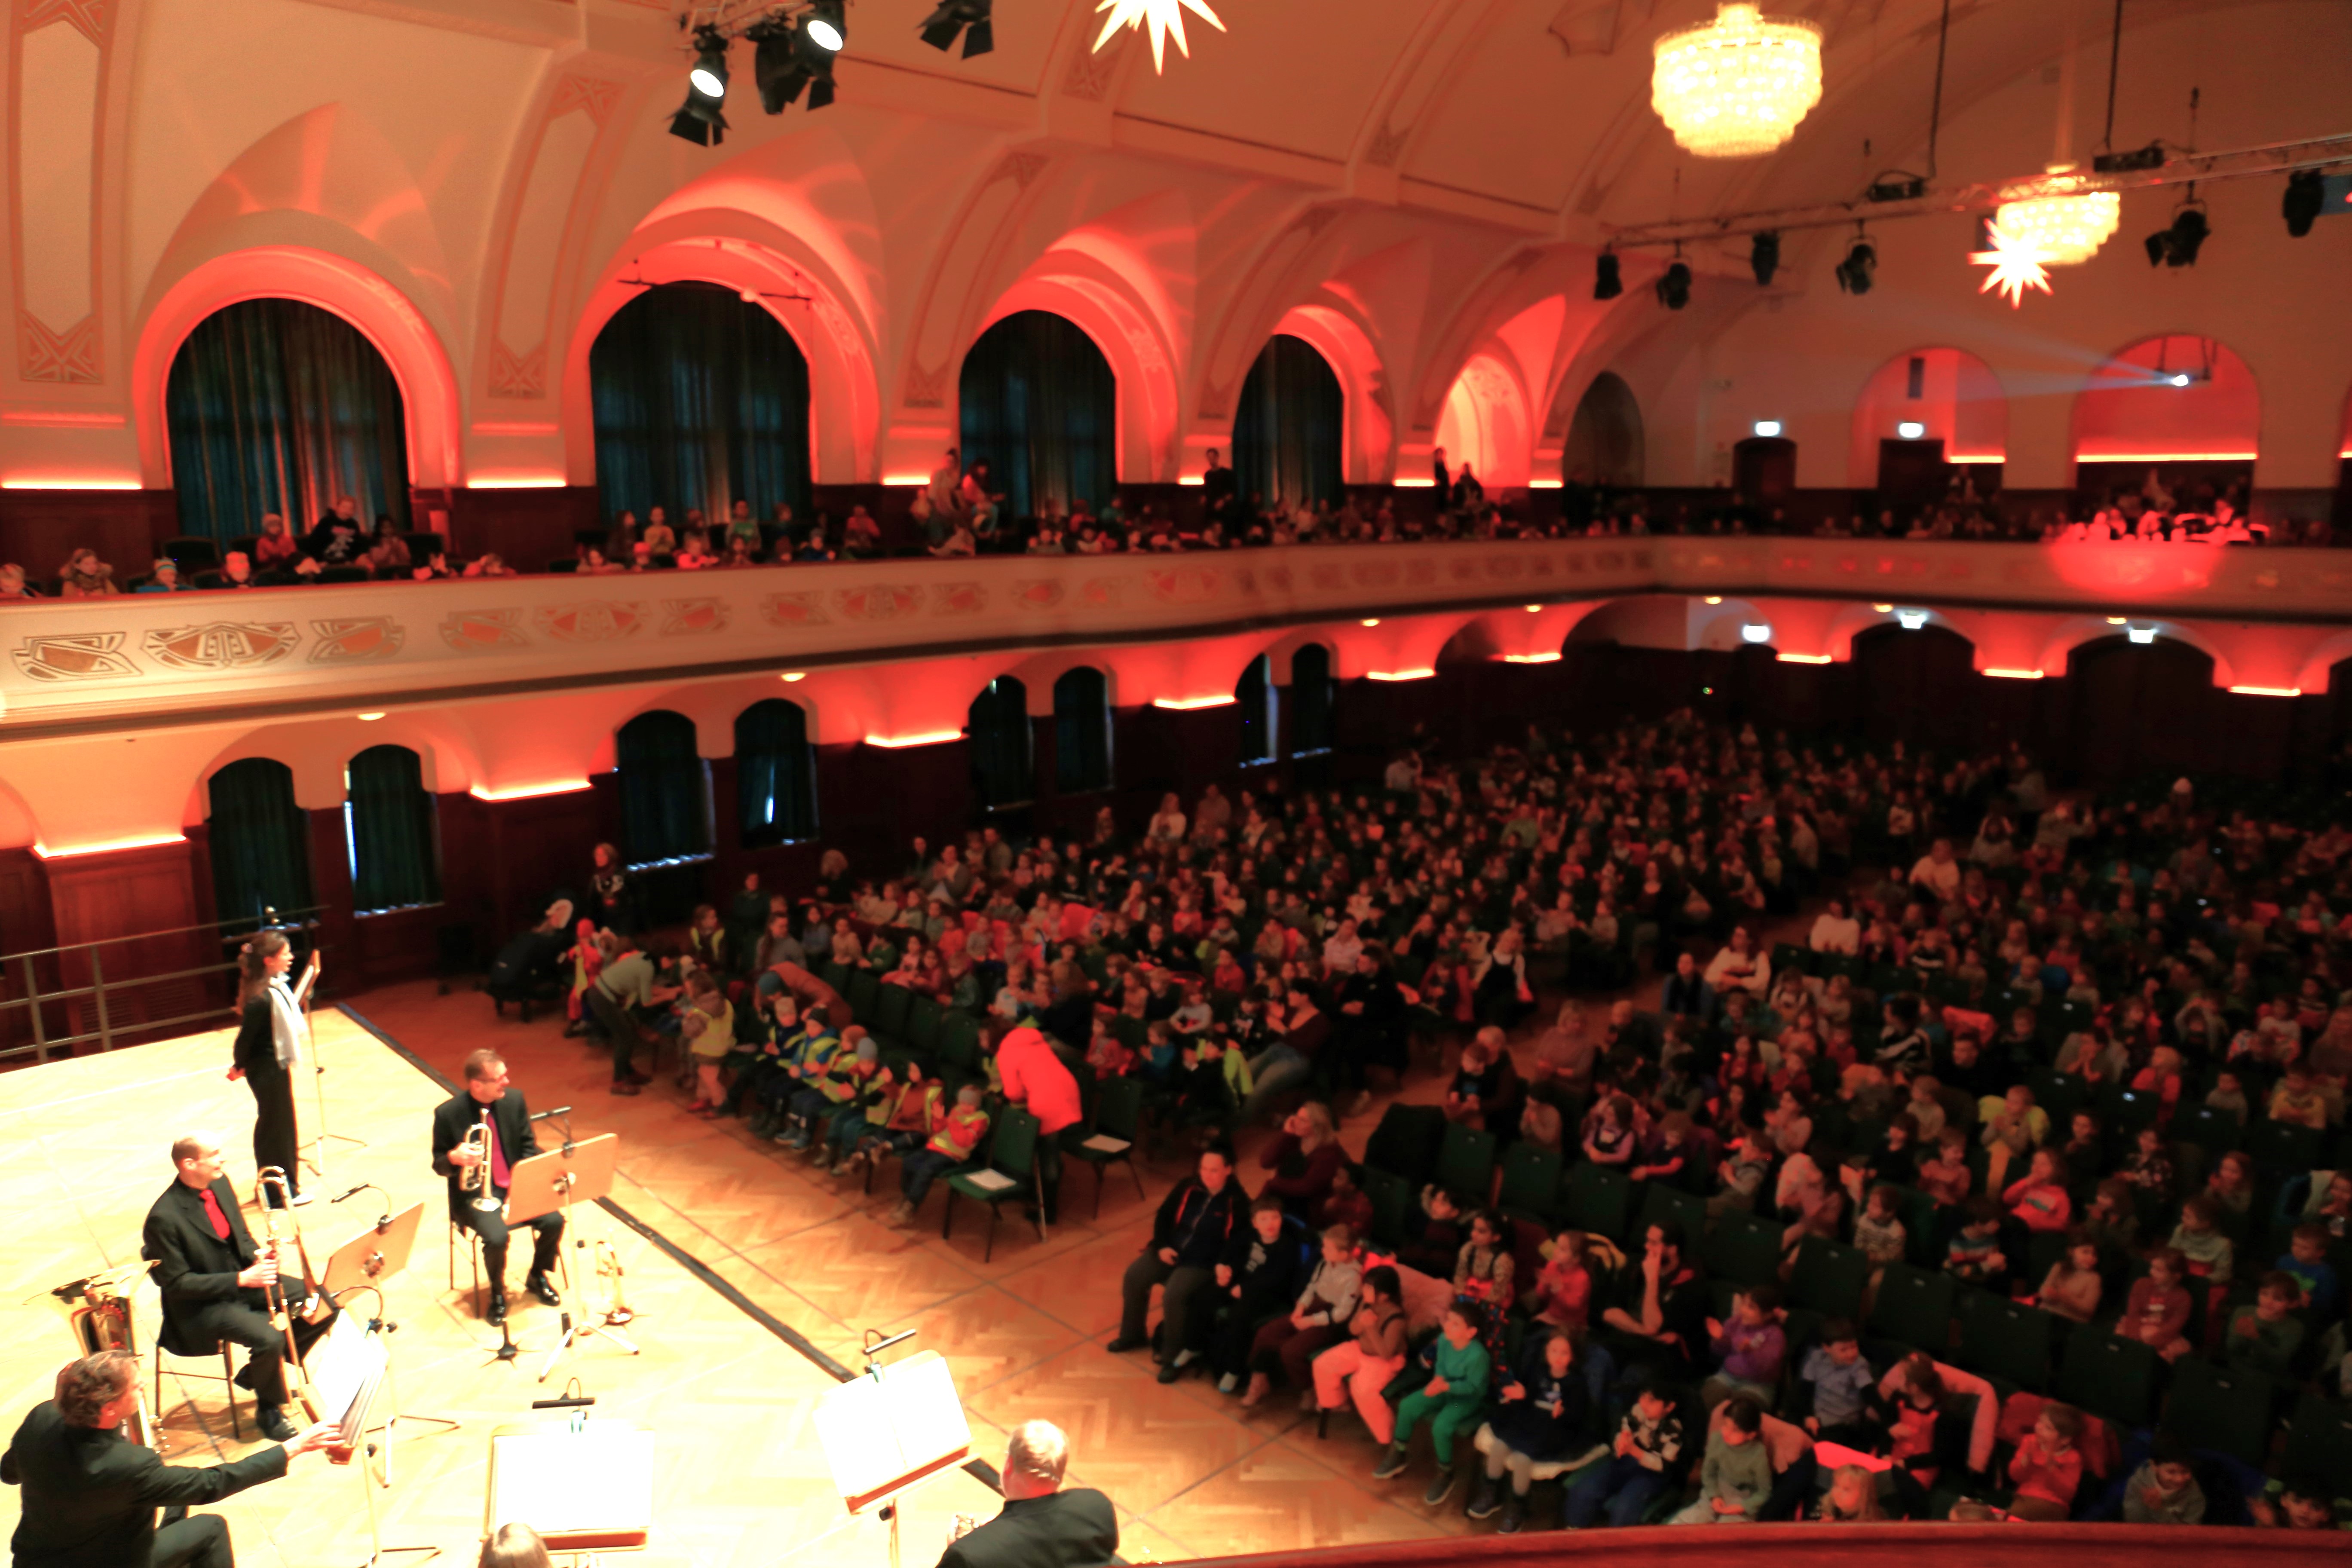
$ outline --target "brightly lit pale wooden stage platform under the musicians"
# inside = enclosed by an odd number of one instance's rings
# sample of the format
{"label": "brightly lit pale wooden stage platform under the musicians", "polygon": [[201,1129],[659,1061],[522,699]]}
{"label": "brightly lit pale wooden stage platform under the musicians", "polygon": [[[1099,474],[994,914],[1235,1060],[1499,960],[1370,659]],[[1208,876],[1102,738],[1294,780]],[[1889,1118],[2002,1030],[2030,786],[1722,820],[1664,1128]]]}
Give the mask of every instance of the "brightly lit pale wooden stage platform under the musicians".
{"label": "brightly lit pale wooden stage platform under the musicians", "polygon": [[[534,1382],[557,1314],[520,1291],[513,1331],[527,1347],[513,1363],[489,1361],[499,1335],[475,1321],[466,1253],[456,1255],[459,1291],[445,1265],[447,1199],[428,1166],[430,1110],[447,1098],[426,1070],[381,1044],[334,1009],[315,1018],[327,1065],[327,1128],[362,1138],[327,1145],[327,1178],[308,1175],[320,1201],[296,1211],[313,1258],[379,1211],[376,1194],[332,1206],[329,1197],[376,1182],[400,1206],[423,1199],[416,1262],[393,1281],[390,1335],[400,1403],[414,1415],[447,1415],[456,1432],[402,1425],[395,1486],[379,1490],[386,1547],[440,1547],[440,1563],[470,1566],[482,1540],[489,1434],[532,1420],[529,1401],[579,1378],[597,1403],[593,1420],[626,1418],[654,1432],[654,1535],[630,1561],[652,1563],[873,1563],[889,1561],[882,1523],[847,1521],[809,1420],[830,1375],[736,1302],[673,1260],[661,1246],[588,1208],[583,1234],[609,1239],[626,1267],[626,1295],[637,1321],[630,1356],[602,1340],[567,1354],[546,1387]],[[111,1056],[87,1056],[0,1074],[0,1128],[12,1159],[0,1173],[0,1418],[14,1432],[24,1410],[49,1396],[56,1368],[73,1356],[52,1286],[139,1255],[148,1204],[172,1180],[172,1138],[212,1131],[228,1154],[228,1178],[252,1208],[252,1095],[223,1079],[228,1032],[202,1034]],[[517,1079],[522,1074],[517,1072]],[[602,1095],[600,1095],[602,1100]],[[536,1095],[534,1107],[550,1100]],[[583,1110],[602,1110],[602,1103]],[[318,1112],[301,1095],[303,1133]],[[579,1128],[588,1135],[588,1126]],[[602,1131],[602,1128],[597,1128]],[[520,1284],[522,1258],[510,1260]],[[153,1286],[139,1307],[141,1349],[153,1340]],[[172,1368],[219,1371],[216,1361]],[[223,1387],[165,1373],[160,1425],[169,1462],[209,1465],[252,1450],[252,1396],[242,1394],[247,1441],[228,1434]],[[976,1453],[1004,1453],[1002,1432],[974,1418]],[[16,1488],[0,1488],[0,1530],[14,1530]],[[273,1481],[223,1502],[245,1568],[358,1568],[369,1554],[367,1502],[358,1465],[325,1455],[294,1462]],[[995,1493],[964,1472],[927,1483],[906,1514],[906,1561],[936,1561],[953,1514],[997,1512]],[[423,1561],[423,1554],[390,1559]]]}

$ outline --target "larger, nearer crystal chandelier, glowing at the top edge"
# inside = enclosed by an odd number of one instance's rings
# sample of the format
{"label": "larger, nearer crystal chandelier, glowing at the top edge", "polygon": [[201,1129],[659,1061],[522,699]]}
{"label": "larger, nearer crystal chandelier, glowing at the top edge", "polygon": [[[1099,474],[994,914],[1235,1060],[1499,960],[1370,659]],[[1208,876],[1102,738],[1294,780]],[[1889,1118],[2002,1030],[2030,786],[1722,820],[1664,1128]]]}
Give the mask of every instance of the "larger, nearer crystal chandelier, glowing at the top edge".
{"label": "larger, nearer crystal chandelier, glowing at the top edge", "polygon": [[1698,158],[1771,153],[1820,103],[1820,26],[1726,0],[1715,21],[1658,40],[1649,103]]}

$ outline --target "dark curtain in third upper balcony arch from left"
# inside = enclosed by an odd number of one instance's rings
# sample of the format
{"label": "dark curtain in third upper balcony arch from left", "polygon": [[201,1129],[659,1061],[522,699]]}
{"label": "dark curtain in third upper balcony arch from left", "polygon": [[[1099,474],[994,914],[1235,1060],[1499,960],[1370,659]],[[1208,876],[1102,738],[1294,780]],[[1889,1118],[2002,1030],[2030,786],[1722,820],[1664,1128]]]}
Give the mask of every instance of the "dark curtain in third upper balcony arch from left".
{"label": "dark curtain in third upper balcony arch from left", "polygon": [[1016,310],[981,334],[957,378],[964,465],[988,458],[1011,517],[1047,503],[1103,505],[1117,487],[1120,386],[1084,331],[1051,310]]}

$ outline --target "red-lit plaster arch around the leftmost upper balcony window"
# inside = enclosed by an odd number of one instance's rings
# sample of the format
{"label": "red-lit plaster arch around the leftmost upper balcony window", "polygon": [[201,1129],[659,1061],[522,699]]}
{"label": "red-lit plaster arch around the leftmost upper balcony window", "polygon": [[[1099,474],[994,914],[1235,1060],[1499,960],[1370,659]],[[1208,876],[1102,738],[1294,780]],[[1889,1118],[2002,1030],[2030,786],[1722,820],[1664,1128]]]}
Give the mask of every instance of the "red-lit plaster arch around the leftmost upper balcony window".
{"label": "red-lit plaster arch around the leftmost upper balcony window", "polygon": [[[303,228],[318,226],[318,221],[303,223]],[[348,235],[348,230],[336,233]],[[172,487],[172,435],[165,423],[172,360],[198,322],[249,299],[299,299],[350,322],[383,355],[393,381],[400,383],[409,484],[442,489],[461,482],[463,395],[442,336],[414,299],[386,273],[334,249],[254,244],[191,266],[155,294],[139,317],[132,348],[136,409],[132,423],[139,430],[139,473],[146,487]]]}

